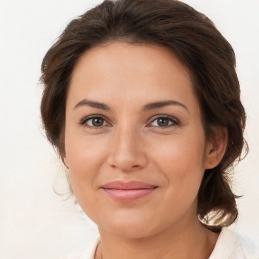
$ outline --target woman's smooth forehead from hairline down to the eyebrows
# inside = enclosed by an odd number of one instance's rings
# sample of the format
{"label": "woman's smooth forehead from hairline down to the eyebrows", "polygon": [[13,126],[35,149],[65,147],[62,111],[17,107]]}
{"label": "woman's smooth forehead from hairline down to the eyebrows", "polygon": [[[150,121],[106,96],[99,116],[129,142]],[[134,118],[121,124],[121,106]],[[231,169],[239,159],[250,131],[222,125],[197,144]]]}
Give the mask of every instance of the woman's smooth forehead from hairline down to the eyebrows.
{"label": "woman's smooth forehead from hairline down to the eyebrows", "polygon": [[127,101],[132,95],[139,101],[196,101],[189,69],[164,46],[113,42],[86,51],[78,60],[69,102],[97,97],[103,102]]}

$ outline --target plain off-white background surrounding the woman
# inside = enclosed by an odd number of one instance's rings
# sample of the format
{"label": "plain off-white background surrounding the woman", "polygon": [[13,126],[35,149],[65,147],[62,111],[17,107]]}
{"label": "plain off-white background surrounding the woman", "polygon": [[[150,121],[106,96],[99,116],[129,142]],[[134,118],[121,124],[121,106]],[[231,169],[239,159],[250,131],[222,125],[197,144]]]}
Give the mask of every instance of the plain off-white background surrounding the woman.
{"label": "plain off-white background surrounding the woman", "polygon": [[[98,235],[66,190],[63,168],[40,128],[40,63],[54,39],[95,0],[0,0],[0,258],[54,259]],[[212,19],[237,56],[249,155],[235,170],[240,220],[259,243],[259,1],[185,0]]]}

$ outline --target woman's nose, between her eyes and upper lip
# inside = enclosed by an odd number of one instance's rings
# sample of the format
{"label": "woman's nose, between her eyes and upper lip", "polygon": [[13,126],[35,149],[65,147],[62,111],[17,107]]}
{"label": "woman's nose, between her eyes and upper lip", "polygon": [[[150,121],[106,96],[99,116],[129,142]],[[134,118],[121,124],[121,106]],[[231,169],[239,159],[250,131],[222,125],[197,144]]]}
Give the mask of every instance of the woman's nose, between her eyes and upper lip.
{"label": "woman's nose, between her eyes and upper lip", "polygon": [[138,130],[117,128],[108,157],[108,164],[123,172],[144,168],[147,164],[145,145]]}

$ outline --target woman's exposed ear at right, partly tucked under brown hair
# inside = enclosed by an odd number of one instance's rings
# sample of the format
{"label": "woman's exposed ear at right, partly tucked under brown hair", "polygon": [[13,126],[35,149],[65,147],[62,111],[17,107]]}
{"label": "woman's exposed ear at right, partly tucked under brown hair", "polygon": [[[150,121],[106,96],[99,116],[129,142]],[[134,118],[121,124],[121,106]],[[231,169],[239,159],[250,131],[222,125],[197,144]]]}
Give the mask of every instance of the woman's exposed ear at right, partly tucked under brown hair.
{"label": "woman's exposed ear at right, partly tucked under brown hair", "polygon": [[228,144],[227,128],[217,128],[214,131],[215,140],[208,144],[205,157],[205,169],[217,166],[223,158]]}

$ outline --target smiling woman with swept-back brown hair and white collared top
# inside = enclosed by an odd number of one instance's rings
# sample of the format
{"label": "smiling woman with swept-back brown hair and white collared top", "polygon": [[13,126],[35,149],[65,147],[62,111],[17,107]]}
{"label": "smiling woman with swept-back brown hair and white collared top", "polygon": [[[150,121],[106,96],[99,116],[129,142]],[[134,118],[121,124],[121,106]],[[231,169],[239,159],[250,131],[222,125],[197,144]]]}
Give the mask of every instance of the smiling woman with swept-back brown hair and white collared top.
{"label": "smiling woman with swept-back brown hair and white collared top", "polygon": [[47,137],[100,233],[65,258],[252,258],[226,228],[245,146],[235,55],[206,16],[104,1],[67,26],[41,80]]}

